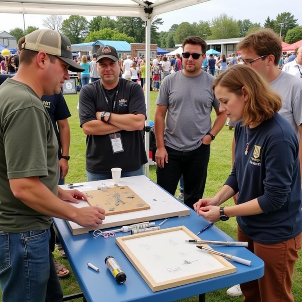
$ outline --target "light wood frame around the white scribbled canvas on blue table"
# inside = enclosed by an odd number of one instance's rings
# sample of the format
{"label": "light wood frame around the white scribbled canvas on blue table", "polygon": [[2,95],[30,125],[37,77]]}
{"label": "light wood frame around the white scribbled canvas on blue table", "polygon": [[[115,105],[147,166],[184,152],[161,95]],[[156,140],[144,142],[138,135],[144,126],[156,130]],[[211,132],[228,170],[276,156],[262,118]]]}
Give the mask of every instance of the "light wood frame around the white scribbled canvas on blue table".
{"label": "light wood frame around the white scribbled canvas on blue table", "polygon": [[[153,236],[153,235],[160,234],[160,233],[173,232],[173,231],[178,231],[178,230],[184,231],[188,235],[188,238],[200,239],[197,235],[192,233],[185,226],[176,226],[176,227],[163,229],[163,230],[156,230],[156,231],[147,232],[147,233],[139,233],[139,234],[130,235],[130,236],[118,237],[115,239],[116,244],[124,252],[124,254],[128,258],[128,260],[132,263],[132,265],[140,273],[141,277],[145,280],[145,282],[148,284],[148,286],[151,288],[151,290],[153,292],[161,291],[161,290],[164,290],[167,288],[173,288],[176,286],[189,284],[189,283],[193,283],[193,282],[197,282],[197,281],[201,281],[201,280],[205,280],[205,279],[209,279],[209,278],[214,278],[217,276],[223,276],[223,275],[227,275],[227,274],[236,272],[236,267],[233,264],[231,264],[230,262],[228,262],[225,258],[223,258],[222,256],[219,256],[219,255],[209,253],[212,257],[217,259],[223,265],[223,268],[214,269],[212,271],[207,271],[207,272],[201,272],[199,274],[190,275],[189,277],[181,277],[181,278],[175,278],[174,280],[156,282],[151,277],[151,275],[148,273],[146,268],[140,263],[140,261],[137,259],[137,257],[133,254],[133,252],[128,248],[128,246],[125,244],[125,241],[131,240],[134,238]],[[203,246],[209,247],[206,244],[204,244]]]}

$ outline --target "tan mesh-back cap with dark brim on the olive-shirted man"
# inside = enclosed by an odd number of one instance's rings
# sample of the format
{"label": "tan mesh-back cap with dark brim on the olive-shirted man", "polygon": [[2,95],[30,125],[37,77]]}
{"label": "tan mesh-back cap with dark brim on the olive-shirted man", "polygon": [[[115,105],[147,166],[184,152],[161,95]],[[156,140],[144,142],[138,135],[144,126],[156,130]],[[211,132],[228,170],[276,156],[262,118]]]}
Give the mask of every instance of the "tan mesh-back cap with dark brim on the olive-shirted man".
{"label": "tan mesh-back cap with dark brim on the olive-shirted man", "polygon": [[52,29],[39,29],[25,36],[25,42],[21,49],[34,51],[44,51],[53,56],[57,56],[65,63],[69,64],[69,70],[73,72],[82,72],[82,68],[72,59],[72,48],[69,39],[58,31]]}

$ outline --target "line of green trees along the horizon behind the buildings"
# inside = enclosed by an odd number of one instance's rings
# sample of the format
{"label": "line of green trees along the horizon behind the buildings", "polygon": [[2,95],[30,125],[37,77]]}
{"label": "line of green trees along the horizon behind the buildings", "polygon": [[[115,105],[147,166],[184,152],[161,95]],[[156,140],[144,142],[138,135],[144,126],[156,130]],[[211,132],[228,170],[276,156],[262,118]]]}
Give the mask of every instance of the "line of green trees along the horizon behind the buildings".
{"label": "line of green trees along the horizon behind the buildings", "polygon": [[[290,12],[278,14],[275,19],[269,16],[263,25],[253,23],[249,19],[235,20],[232,16],[221,14],[211,21],[182,22],[173,24],[169,31],[159,32],[159,25],[163,24],[162,18],[151,22],[151,43],[157,43],[162,48],[173,48],[175,44],[182,43],[185,37],[198,35],[206,40],[245,37],[259,28],[271,28],[280,34],[286,43],[294,43],[302,39],[302,26],[297,24],[297,19]],[[51,15],[43,19],[43,26],[62,32],[72,44],[93,42],[95,40],[118,40],[128,43],[145,42],[145,22],[139,17],[110,17],[97,16],[91,21],[84,16],[71,15],[63,20],[62,16]],[[25,34],[38,28],[28,26]],[[21,28],[14,28],[10,34],[17,39],[24,35]]]}

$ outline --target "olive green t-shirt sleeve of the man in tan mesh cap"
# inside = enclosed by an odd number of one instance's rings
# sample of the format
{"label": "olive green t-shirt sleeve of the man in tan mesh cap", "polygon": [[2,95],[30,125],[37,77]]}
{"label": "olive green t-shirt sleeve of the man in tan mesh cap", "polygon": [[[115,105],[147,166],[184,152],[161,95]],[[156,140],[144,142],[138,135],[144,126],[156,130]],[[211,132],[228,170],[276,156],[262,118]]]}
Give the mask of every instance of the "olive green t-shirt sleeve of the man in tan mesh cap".
{"label": "olive green t-shirt sleeve of the man in tan mesh cap", "polygon": [[9,179],[48,176],[46,146],[53,130],[49,122],[46,112],[35,107],[15,111],[5,119],[3,141]]}

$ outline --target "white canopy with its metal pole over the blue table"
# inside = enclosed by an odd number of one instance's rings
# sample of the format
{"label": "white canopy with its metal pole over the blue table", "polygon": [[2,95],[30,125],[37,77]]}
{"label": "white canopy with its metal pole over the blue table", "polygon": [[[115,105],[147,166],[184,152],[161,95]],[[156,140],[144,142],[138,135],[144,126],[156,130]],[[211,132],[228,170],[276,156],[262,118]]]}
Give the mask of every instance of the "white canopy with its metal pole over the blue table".
{"label": "white canopy with its metal pole over the blue table", "polygon": [[[60,14],[140,17],[146,22],[146,62],[150,61],[150,27],[152,19],[168,11],[209,0],[0,0],[0,13],[10,14]],[[146,68],[146,126],[150,113],[150,70]],[[149,133],[146,133],[146,153],[149,157]],[[146,175],[149,165],[146,164]]]}

